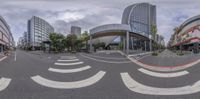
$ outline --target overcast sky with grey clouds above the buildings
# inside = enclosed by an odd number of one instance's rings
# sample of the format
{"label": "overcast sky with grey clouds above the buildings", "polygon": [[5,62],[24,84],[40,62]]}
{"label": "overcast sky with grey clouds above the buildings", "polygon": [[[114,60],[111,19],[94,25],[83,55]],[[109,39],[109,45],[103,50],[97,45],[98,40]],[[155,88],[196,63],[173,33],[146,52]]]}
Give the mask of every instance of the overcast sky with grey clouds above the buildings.
{"label": "overcast sky with grey clouds above the buildings", "polygon": [[15,39],[27,31],[27,21],[38,16],[49,22],[55,32],[67,35],[72,25],[82,31],[121,23],[123,10],[134,3],[156,5],[158,34],[168,42],[173,29],[200,14],[200,0],[0,0],[0,15],[7,21]]}

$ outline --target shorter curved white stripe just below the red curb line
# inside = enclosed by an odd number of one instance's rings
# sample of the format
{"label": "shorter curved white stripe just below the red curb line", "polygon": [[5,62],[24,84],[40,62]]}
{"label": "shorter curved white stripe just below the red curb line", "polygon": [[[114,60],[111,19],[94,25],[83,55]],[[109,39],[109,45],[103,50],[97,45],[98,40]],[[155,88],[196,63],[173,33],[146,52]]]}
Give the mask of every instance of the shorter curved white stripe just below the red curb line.
{"label": "shorter curved white stripe just below the red curb line", "polygon": [[174,72],[174,73],[157,73],[157,72],[149,71],[149,70],[146,70],[143,68],[140,68],[138,70],[140,72],[150,75],[150,76],[163,77],[163,78],[178,77],[178,76],[183,76],[183,75],[189,74],[188,71],[180,71],[180,72]]}

